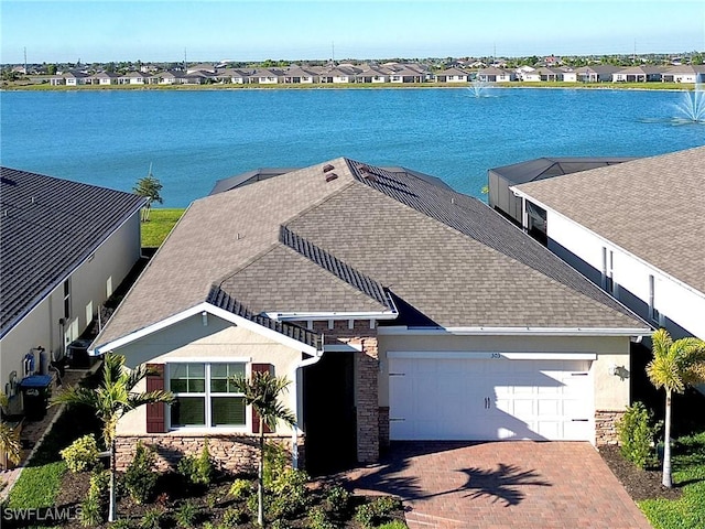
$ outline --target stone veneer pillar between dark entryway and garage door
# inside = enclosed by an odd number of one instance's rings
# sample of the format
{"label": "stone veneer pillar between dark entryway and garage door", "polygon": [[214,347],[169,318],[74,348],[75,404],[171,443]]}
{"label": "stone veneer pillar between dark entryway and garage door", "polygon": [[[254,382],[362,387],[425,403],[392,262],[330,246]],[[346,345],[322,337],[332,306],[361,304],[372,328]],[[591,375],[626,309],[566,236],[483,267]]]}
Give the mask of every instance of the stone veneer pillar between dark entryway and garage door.
{"label": "stone veneer pillar between dark entryway and garage door", "polygon": [[380,447],[377,327],[370,328],[369,321],[356,320],[350,328],[345,320],[333,322],[333,328],[328,322],[315,322],[313,328],[324,335],[327,345],[349,344],[362,349],[355,355],[357,461],[376,463]]}

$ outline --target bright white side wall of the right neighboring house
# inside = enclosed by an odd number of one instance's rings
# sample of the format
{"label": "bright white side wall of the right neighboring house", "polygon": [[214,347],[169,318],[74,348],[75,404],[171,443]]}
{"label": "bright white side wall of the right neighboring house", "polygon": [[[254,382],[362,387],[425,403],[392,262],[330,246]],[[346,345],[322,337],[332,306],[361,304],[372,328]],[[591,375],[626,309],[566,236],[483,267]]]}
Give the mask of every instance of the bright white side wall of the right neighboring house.
{"label": "bright white side wall of the right neighboring house", "polygon": [[[547,210],[546,224],[550,239],[558,242],[598,272],[603,271],[603,248],[606,248],[608,252],[611,250],[612,278],[619,285],[615,294],[627,306],[630,306],[629,296],[621,292],[621,289],[631,292],[648,306],[650,294],[649,276],[653,276],[655,283],[654,307],[663,316],[672,320],[694,336],[705,339],[705,317],[703,317],[703,314],[705,314],[705,293],[690,288],[551,209]],[[549,248],[558,253],[560,257],[570,260],[568,257],[561,255],[551,245]],[[649,317],[649,314],[644,313],[643,306],[638,307],[631,304],[630,309],[644,319]],[[664,321],[653,322],[653,324],[663,324],[668,328],[668,323]]]}

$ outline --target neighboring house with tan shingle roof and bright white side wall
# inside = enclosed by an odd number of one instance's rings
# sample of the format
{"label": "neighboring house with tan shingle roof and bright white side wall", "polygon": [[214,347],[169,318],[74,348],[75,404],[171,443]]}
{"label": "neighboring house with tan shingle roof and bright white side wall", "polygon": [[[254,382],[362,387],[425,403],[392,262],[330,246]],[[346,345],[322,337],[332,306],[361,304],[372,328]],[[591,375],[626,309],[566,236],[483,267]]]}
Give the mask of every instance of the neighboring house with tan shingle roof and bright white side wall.
{"label": "neighboring house with tan shingle roof and bright white side wall", "polygon": [[704,168],[696,148],[512,190],[550,250],[654,326],[705,339]]}

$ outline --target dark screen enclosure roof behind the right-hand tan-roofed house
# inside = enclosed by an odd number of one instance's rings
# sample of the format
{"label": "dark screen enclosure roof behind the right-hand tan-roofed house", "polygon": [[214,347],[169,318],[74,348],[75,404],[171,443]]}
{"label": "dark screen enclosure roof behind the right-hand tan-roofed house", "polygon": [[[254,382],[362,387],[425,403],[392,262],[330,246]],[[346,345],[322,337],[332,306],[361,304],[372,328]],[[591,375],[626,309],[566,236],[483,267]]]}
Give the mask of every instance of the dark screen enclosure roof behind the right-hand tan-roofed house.
{"label": "dark screen enclosure roof behind the right-hand tan-roofed house", "polygon": [[562,174],[577,173],[590,169],[615,165],[617,163],[629,162],[634,158],[593,158],[593,156],[557,156],[538,158],[527,162],[512,163],[501,168],[492,168],[491,172],[499,174],[510,184],[524,184],[538,180],[552,179]]}

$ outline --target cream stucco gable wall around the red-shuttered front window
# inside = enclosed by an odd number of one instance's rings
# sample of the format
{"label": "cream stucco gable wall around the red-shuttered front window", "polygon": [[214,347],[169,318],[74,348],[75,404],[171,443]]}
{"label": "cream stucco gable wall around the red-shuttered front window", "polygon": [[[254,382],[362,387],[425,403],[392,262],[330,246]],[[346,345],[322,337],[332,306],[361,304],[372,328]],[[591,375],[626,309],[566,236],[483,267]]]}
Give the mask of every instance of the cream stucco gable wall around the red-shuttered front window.
{"label": "cream stucco gable wall around the red-shuttered front window", "polygon": [[[301,350],[282,345],[245,327],[236,326],[214,315],[207,316],[207,325],[203,324],[200,315],[193,316],[115,349],[113,353],[124,355],[129,367],[145,363],[169,364],[170,361],[188,359],[272,364],[275,376],[286,377],[291,381],[283,403],[296,412],[295,369],[302,359]],[[142,389],[145,387],[145,382],[143,382]],[[249,421],[249,412],[247,417]],[[251,431],[249,427],[248,424],[248,432]],[[144,407],[131,411],[118,424],[119,435],[143,435],[147,433],[145,430],[147,409]],[[227,429],[183,429],[174,431],[174,433],[183,434],[185,430],[191,433],[228,432]],[[289,434],[291,429],[280,423],[276,432]]]}

